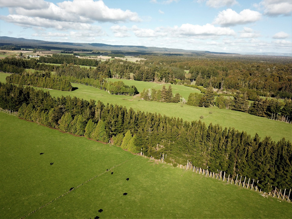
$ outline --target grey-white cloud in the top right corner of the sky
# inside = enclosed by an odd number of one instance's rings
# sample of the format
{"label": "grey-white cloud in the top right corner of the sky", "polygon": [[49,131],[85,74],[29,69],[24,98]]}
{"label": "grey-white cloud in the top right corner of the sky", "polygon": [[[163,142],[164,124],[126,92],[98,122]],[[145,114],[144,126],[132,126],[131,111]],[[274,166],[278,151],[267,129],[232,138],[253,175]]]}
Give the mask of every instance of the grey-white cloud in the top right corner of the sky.
{"label": "grey-white cloud in the top right corner of the sky", "polygon": [[258,6],[262,6],[264,8],[264,14],[268,16],[292,15],[291,0],[264,0]]}

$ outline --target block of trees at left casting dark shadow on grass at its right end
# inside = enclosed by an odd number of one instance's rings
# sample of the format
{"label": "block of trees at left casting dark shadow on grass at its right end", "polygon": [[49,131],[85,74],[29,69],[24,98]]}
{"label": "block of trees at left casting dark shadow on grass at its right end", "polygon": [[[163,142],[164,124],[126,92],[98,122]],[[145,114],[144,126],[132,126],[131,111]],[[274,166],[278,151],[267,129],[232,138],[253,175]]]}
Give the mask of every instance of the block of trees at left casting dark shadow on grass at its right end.
{"label": "block of trees at left casting dark shadow on grass at its right end", "polygon": [[69,81],[64,78],[50,77],[50,72],[35,72],[34,74],[11,74],[6,77],[6,82],[50,88],[61,91],[72,91],[72,86]]}

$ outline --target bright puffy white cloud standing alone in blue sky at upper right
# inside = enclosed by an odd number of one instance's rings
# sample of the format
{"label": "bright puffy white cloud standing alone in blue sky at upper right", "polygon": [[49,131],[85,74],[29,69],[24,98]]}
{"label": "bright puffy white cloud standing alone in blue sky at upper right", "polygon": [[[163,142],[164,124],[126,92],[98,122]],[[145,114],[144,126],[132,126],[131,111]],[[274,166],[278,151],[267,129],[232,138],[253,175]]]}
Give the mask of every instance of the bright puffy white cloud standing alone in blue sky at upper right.
{"label": "bright puffy white cloud standing alone in blue sky at upper right", "polygon": [[240,24],[247,24],[260,20],[261,14],[257,11],[251,11],[250,9],[244,9],[239,14],[236,11],[228,8],[219,12],[217,18],[215,18],[214,24],[221,26],[234,26]]}

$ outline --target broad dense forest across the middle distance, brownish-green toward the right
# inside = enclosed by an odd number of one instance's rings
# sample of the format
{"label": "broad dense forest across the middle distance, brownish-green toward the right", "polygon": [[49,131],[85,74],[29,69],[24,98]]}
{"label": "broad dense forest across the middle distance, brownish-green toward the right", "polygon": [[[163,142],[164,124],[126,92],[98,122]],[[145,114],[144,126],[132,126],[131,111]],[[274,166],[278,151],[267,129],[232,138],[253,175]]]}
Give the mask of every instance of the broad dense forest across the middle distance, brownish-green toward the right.
{"label": "broad dense forest across the middle distance, brownish-green toward the right", "polygon": [[[129,62],[114,59],[101,62],[95,59],[78,58],[72,55],[53,54],[41,56],[39,60],[6,58],[0,61],[0,70],[9,72],[8,66],[35,68],[38,63],[59,63],[98,66],[98,69],[63,68],[55,71],[78,78],[94,78],[100,75],[137,81],[160,81],[175,84],[190,84],[204,87],[212,86],[220,91],[246,92],[248,96],[292,98],[292,63],[285,60],[256,61],[232,58],[199,59],[183,56],[142,56],[147,60]],[[9,60],[11,59],[11,60]],[[3,65],[6,64],[6,69]],[[13,69],[12,69],[13,70]],[[185,72],[189,70],[189,72]],[[11,71],[12,72],[12,71]],[[17,73],[17,72],[15,72]]]}

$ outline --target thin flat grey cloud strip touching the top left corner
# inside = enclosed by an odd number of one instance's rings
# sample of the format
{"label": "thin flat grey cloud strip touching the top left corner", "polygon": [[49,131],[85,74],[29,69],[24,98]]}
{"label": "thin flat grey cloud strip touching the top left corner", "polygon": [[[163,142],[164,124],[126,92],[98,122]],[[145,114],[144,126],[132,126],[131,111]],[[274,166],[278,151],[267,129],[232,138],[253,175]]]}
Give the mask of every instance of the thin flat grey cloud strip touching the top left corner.
{"label": "thin flat grey cloud strip touching the top left corner", "polygon": [[25,0],[25,1],[12,1],[12,0],[0,0],[0,8],[9,7],[9,8],[24,8],[27,10],[32,9],[42,9],[48,8],[49,3],[44,0]]}

